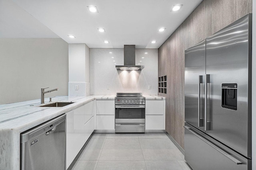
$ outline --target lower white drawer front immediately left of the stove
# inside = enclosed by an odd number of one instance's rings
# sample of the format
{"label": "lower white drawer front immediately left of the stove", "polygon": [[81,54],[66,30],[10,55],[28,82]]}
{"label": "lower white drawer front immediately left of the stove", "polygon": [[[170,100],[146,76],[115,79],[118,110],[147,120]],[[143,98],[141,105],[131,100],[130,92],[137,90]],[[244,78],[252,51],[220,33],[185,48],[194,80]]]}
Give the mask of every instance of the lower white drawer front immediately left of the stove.
{"label": "lower white drawer front immediately left of the stove", "polygon": [[114,130],[115,129],[115,115],[97,115],[96,117],[97,130]]}

